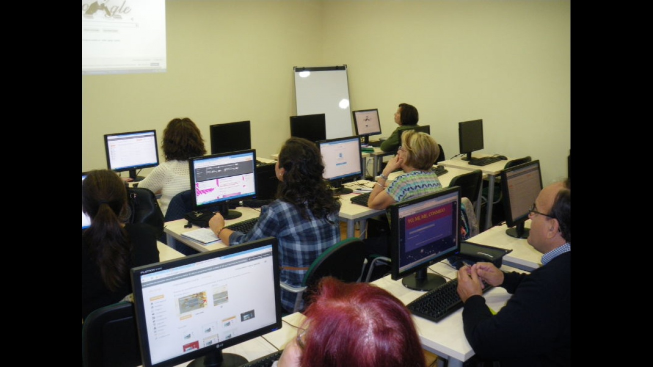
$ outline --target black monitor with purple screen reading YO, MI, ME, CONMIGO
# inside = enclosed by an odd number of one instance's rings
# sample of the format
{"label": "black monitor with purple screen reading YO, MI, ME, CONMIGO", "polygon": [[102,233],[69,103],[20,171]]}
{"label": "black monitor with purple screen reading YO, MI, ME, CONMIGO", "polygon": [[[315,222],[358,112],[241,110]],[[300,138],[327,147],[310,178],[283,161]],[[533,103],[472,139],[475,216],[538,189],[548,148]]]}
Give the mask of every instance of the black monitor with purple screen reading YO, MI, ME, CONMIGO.
{"label": "black monitor with purple screen reading YO, MI, ME, CONMIGO", "polygon": [[431,290],[447,282],[428,266],[460,251],[460,187],[390,205],[390,276],[405,287]]}

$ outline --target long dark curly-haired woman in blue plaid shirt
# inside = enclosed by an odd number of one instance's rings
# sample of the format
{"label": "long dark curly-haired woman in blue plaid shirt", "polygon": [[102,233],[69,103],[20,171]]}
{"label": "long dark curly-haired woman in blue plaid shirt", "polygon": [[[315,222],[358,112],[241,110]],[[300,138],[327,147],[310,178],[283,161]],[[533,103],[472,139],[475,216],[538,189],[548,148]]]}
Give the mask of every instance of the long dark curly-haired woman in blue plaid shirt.
{"label": "long dark curly-haired woman in blue plaid shirt", "polygon": [[[281,281],[299,287],[313,260],[340,241],[340,201],[322,178],[324,169],[315,143],[291,137],[281,147],[275,167],[280,181],[277,199],[261,207],[254,228],[247,234],[234,232],[225,228],[225,219],[215,213],[209,221],[211,230],[225,245],[277,237]],[[295,297],[295,293],[281,290],[281,304],[286,311],[293,311]]]}

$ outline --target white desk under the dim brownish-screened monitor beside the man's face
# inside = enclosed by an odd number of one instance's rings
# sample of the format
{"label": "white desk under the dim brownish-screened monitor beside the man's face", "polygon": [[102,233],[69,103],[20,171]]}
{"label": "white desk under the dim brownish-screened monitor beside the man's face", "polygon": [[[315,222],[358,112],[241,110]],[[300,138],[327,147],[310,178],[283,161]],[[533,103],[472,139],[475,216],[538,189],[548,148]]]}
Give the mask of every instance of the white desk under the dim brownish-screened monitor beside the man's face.
{"label": "white desk under the dim brownish-screened monitor beside the man's face", "polygon": [[[530,228],[530,219],[526,220],[526,228]],[[508,227],[505,224],[494,226],[477,236],[471,237],[470,242],[511,249],[513,252],[503,256],[502,264],[513,266],[520,270],[533,271],[542,266],[542,253],[528,244],[526,239],[515,238],[505,234]]]}

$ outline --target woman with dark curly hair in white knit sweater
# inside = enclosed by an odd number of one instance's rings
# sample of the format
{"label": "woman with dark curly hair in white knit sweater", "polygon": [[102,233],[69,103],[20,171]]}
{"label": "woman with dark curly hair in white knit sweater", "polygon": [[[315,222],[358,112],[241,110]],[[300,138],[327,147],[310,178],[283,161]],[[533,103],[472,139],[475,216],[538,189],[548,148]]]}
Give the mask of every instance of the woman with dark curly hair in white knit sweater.
{"label": "woman with dark curly hair in white knit sweater", "polygon": [[149,175],[138,183],[138,187],[149,188],[161,194],[159,204],[163,215],[168,211],[172,197],[191,189],[188,172],[188,158],[206,154],[204,138],[195,122],[190,118],[173,118],[163,130],[161,149],[165,162],[154,167]]}

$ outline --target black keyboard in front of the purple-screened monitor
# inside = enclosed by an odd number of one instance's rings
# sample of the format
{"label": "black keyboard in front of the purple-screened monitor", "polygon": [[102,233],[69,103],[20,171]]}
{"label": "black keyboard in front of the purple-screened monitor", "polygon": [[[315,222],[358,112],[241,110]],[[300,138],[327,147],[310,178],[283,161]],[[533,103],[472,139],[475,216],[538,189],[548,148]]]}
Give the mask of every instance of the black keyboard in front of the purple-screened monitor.
{"label": "black keyboard in front of the purple-screened monitor", "polygon": [[[413,315],[437,323],[463,306],[456,288],[458,288],[458,279],[453,279],[438,288],[429,290],[406,306]],[[494,287],[485,284],[483,292],[485,293],[490,288]]]}

